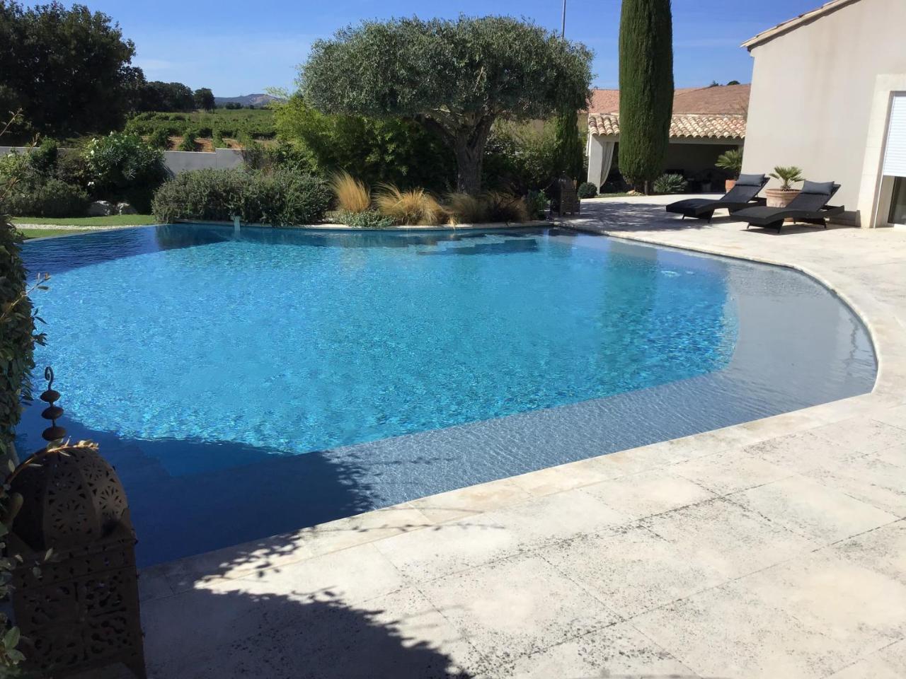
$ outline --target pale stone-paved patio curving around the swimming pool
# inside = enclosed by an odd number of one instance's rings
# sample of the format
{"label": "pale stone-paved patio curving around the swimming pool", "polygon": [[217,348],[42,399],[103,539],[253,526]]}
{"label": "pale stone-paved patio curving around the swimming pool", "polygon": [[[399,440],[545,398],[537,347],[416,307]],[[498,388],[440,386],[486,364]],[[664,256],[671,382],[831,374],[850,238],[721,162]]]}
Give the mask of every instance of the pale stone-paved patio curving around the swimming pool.
{"label": "pale stone-paved patio curving around the swimming pool", "polygon": [[906,233],[659,202],[570,222],[812,273],[874,392],[146,569],[149,676],[906,675]]}

